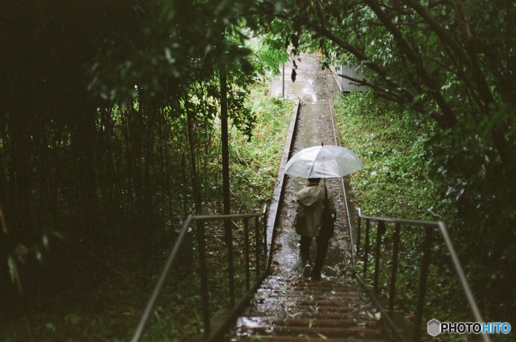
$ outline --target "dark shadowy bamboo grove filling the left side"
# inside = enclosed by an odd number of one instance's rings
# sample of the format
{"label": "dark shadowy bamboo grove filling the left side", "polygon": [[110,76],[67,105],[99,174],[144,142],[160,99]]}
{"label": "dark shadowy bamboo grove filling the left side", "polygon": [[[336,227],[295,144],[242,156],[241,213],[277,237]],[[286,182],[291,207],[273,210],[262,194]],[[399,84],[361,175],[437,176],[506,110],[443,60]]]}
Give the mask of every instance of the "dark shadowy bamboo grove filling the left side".
{"label": "dark shadowy bamboo grove filling the left side", "polygon": [[250,136],[246,89],[262,68],[239,12],[230,2],[6,4],[2,288],[21,260],[29,292],[98,284],[104,263],[152,274],[172,227],[203,207],[222,211],[221,99]]}

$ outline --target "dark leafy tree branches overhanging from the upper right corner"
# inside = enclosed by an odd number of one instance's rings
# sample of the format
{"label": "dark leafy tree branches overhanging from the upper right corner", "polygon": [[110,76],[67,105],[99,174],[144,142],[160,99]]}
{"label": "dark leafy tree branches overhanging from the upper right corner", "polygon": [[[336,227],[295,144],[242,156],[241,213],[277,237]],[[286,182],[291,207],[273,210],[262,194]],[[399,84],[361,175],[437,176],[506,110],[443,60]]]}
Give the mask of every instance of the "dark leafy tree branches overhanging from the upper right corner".
{"label": "dark leafy tree branches overhanging from the upper right corner", "polygon": [[[447,172],[446,193],[460,199],[461,217],[480,230],[479,224],[497,225],[494,211],[514,224],[516,189],[502,185],[516,170],[515,88],[507,76],[516,65],[509,52],[514,6],[481,0],[464,7],[412,0],[393,6],[283,2],[282,14],[264,27],[287,41],[298,32],[302,46],[318,48],[327,64],[359,64],[365,78],[353,82],[436,123],[435,148],[428,153]],[[417,127],[417,120],[412,123]]]}

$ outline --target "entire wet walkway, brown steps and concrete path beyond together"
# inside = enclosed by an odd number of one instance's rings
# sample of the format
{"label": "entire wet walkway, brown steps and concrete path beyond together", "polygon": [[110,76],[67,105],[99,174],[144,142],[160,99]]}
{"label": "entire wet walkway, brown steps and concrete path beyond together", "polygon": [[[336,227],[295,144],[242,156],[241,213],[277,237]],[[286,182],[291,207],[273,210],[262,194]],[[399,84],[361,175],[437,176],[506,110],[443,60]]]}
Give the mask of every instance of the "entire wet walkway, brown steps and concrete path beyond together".
{"label": "entire wet walkway, brown steps and concrete path beyond together", "polygon": [[[321,142],[335,144],[330,100],[339,93],[333,75],[320,68],[317,56],[302,54],[296,62],[296,82],[292,83],[288,77],[289,71],[285,80],[285,96],[301,102],[293,154]],[[281,79],[271,82],[270,86],[272,95],[281,96]],[[299,235],[293,227],[295,193],[306,186],[307,180],[287,176],[285,182],[273,274],[264,281],[226,339],[382,341],[381,329],[377,327],[378,314],[357,292],[358,285],[351,276],[348,220],[341,179],[326,180],[335,198],[337,221],[320,282],[307,281],[302,276]],[[314,239],[312,259],[315,252]]]}

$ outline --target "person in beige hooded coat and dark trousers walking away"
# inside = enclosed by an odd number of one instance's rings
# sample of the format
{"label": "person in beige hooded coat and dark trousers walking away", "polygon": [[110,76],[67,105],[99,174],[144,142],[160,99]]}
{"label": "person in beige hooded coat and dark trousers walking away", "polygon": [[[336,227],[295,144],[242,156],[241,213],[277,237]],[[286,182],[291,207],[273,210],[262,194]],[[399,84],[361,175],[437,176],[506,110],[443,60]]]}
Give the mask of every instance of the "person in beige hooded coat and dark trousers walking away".
{"label": "person in beige hooded coat and dark trousers walking away", "polygon": [[[326,186],[319,185],[320,178],[308,178],[308,186],[296,193],[297,209],[294,218],[296,233],[301,235],[300,256],[303,276],[312,280],[321,279],[321,269],[326,258],[328,242],[333,236],[336,219],[335,201]],[[326,208],[326,210],[325,210]],[[325,215],[331,216],[325,219]],[[315,237],[317,253],[312,269],[310,244]]]}

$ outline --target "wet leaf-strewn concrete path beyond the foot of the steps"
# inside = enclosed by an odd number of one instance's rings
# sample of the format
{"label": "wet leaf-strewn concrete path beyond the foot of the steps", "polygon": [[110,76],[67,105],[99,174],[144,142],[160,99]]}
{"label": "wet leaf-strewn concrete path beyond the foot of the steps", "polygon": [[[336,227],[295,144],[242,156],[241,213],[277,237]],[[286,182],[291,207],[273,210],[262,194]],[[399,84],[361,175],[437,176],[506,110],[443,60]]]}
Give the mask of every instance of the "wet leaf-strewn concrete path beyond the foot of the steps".
{"label": "wet leaf-strewn concrete path beyond the foot of the steps", "polygon": [[[303,148],[320,145],[334,145],[332,112],[330,100],[335,99],[339,90],[332,73],[322,70],[317,56],[302,54],[297,61],[296,82],[287,77],[285,81],[285,96],[299,98],[301,108],[297,124],[297,135],[294,139],[293,154]],[[281,96],[281,79],[271,83],[271,94]],[[277,275],[289,279],[299,276],[302,272],[299,258],[299,235],[293,229],[296,210],[295,193],[307,185],[302,177],[287,176],[284,203],[281,213],[281,233],[277,239],[279,248],[275,254]],[[321,184],[322,184],[321,180]],[[337,210],[335,235],[330,240],[326,257],[324,276],[348,275],[349,235],[347,213],[344,197],[340,187],[340,179],[329,178],[326,184],[333,192]],[[315,240],[315,239],[314,239]],[[315,256],[315,241],[312,241],[311,255]]]}

